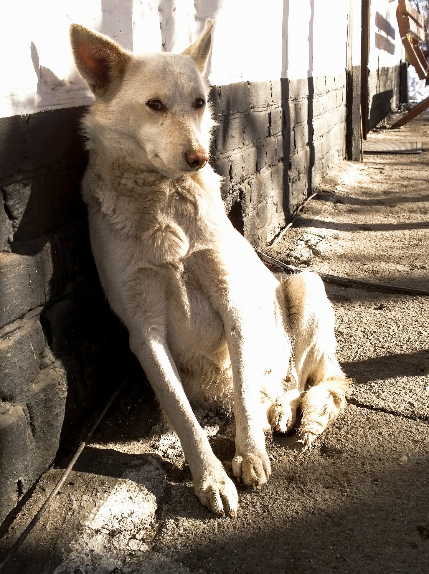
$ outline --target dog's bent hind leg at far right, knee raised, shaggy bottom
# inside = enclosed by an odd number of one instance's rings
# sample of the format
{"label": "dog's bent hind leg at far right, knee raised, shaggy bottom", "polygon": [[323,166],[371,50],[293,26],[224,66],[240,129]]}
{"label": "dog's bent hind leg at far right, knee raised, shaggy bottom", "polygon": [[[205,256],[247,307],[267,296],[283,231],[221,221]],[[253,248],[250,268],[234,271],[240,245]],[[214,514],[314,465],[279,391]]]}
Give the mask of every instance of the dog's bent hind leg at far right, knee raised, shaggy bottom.
{"label": "dog's bent hind leg at far right, knee raised, shaggy bottom", "polygon": [[[282,282],[293,340],[293,359],[302,391],[300,433],[304,448],[333,424],[345,406],[350,379],[335,357],[334,310],[323,281],[303,272]],[[310,385],[304,390],[306,384]]]}

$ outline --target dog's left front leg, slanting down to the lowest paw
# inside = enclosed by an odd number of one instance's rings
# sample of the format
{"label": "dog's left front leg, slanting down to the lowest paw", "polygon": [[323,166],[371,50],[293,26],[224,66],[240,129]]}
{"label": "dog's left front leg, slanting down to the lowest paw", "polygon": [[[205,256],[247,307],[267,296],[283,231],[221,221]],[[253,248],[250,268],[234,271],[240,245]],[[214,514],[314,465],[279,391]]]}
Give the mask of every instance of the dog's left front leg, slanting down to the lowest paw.
{"label": "dog's left front leg, slanting down to the lowest paw", "polygon": [[[192,412],[181,385],[176,364],[165,336],[167,304],[165,285],[159,274],[140,271],[127,297],[130,348],[137,356],[160,402],[179,436],[194,479],[195,493],[209,510],[237,515],[238,495],[221,461],[215,457],[207,435]],[[174,309],[169,309],[173,313]]]}

